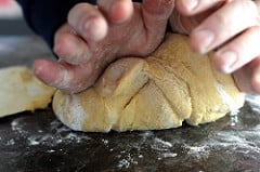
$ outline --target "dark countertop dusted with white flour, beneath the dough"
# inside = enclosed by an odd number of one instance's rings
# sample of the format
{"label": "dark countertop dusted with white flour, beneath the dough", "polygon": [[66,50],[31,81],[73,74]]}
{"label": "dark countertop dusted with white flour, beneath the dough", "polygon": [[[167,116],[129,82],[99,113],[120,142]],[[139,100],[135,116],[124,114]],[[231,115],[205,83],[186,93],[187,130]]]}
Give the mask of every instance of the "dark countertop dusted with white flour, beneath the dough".
{"label": "dark countertop dusted with white flour, beneath the dough", "polygon": [[[0,67],[39,57],[54,59],[39,38],[0,37]],[[236,116],[162,131],[81,133],[51,107],[25,111],[0,119],[0,155],[1,172],[260,172],[260,97]]]}

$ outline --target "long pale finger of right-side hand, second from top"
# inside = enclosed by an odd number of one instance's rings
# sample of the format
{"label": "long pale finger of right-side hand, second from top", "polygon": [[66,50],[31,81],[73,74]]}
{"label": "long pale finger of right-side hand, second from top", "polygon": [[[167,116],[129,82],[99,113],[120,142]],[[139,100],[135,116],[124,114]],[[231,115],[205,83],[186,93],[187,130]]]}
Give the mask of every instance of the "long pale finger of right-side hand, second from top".
{"label": "long pale finger of right-side hand, second from top", "polygon": [[232,1],[192,31],[191,45],[196,52],[206,53],[257,23],[258,10],[252,1]]}

